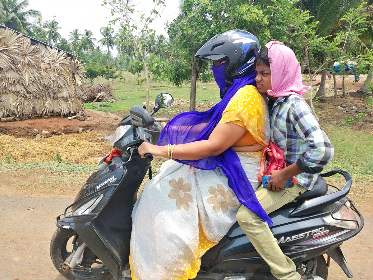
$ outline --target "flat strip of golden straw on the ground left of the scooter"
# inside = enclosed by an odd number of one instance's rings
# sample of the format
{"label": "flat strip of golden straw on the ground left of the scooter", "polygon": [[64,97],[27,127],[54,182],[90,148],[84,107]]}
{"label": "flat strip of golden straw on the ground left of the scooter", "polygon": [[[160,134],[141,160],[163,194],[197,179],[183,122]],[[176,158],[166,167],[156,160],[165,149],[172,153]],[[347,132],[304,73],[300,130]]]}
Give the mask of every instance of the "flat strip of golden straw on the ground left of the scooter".
{"label": "flat strip of golden straw on the ground left of the scooter", "polygon": [[[95,141],[95,142],[93,142]],[[0,135],[0,160],[12,162],[62,161],[97,164],[113,147],[93,133],[53,136],[41,139]],[[56,157],[58,152],[58,157]],[[7,158],[9,157],[9,158]]]}

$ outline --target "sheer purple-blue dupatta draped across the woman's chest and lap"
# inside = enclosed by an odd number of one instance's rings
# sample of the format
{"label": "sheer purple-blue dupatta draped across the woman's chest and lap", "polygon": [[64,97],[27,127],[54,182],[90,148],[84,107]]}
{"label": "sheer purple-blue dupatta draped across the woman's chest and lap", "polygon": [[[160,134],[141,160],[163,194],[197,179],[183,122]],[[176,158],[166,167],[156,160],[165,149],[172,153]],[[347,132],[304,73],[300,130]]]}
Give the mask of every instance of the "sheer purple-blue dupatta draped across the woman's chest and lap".
{"label": "sheer purple-blue dupatta draped across the woman's chest and lap", "polygon": [[[193,141],[207,140],[222,118],[222,113],[231,98],[239,88],[245,85],[255,85],[254,71],[247,76],[233,79],[233,84],[228,89],[223,99],[210,110],[206,112],[184,112],[176,115],[164,127],[158,145],[184,144]],[[273,225],[272,220],[258,202],[254,189],[239,161],[238,155],[232,147],[218,156],[209,156],[195,161],[174,160],[204,170],[214,170],[220,167],[223,171],[223,175],[228,178],[228,186],[233,190],[238,201],[257,214],[263,222],[268,223],[269,226]]]}

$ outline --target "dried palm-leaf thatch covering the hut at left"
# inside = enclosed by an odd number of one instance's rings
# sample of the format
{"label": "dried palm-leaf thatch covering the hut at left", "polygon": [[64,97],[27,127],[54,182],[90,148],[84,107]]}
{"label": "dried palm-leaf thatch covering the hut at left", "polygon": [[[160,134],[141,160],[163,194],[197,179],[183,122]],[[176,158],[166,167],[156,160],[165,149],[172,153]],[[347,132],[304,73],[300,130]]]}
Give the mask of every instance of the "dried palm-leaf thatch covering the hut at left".
{"label": "dried palm-leaf thatch covering the hut at left", "polygon": [[85,111],[77,59],[0,28],[0,118]]}

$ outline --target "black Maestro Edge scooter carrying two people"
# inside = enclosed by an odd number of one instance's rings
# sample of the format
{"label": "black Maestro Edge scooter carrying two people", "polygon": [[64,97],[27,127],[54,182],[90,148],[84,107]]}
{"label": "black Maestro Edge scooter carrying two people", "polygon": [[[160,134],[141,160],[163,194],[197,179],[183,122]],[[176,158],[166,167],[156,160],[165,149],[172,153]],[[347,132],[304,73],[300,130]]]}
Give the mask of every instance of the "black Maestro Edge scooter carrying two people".
{"label": "black Maestro Edge scooter carrying two people", "polygon": [[[108,154],[98,162],[104,164],[88,178],[64,214],[56,218],[50,255],[66,279],[131,279],[128,262],[131,213],[142,180],[147,174],[152,177],[153,160],[150,154],[141,158],[137,149],[143,141],[157,144],[162,125],[152,115],[172,104],[172,96],[161,93],[150,114],[141,106],[133,106],[113,136],[113,147],[120,152]],[[325,181],[335,174],[345,178],[341,188]],[[330,258],[352,277],[341,245],[361,231],[364,218],[347,197],[351,184],[352,178],[345,171],[320,174],[312,190],[269,215],[280,248],[294,261],[304,279],[326,280]],[[235,223],[203,255],[195,279],[275,278]]]}

